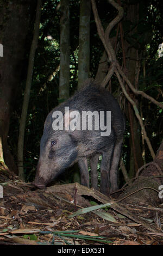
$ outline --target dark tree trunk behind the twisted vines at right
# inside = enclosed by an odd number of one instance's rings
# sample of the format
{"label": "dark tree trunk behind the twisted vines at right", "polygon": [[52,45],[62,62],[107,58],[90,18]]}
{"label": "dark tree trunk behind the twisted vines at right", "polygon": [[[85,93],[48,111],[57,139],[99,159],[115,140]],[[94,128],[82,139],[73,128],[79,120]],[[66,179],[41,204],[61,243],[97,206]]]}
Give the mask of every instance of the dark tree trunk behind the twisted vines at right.
{"label": "dark tree trunk behind the twisted vines at right", "polygon": [[[133,23],[136,23],[139,21],[139,4],[136,3],[136,4],[128,5],[126,20],[132,22],[130,27],[133,26]],[[136,33],[136,27],[130,31],[129,35],[132,35],[134,33]],[[128,75],[129,81],[132,84],[134,84],[136,89],[139,89],[137,81],[139,78],[139,63],[140,63],[142,52],[137,50],[134,46],[131,46],[127,42],[127,40],[124,41],[124,51],[126,55],[125,68],[127,68],[127,75]],[[130,96],[132,97],[132,95]],[[136,99],[134,100],[138,107],[139,102]],[[135,176],[137,169],[139,169],[143,165],[142,150],[140,147],[141,129],[139,124],[137,123],[137,118],[135,117],[135,113],[129,102],[128,102],[128,109],[126,114],[130,122],[130,133],[131,133],[129,176],[130,178],[133,178]]]}

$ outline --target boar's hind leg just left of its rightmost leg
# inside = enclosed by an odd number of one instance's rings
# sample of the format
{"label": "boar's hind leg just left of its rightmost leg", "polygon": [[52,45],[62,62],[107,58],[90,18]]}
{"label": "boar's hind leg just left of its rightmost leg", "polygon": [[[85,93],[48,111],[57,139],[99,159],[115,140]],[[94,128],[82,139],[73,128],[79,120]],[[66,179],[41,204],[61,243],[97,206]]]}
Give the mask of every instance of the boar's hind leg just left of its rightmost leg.
{"label": "boar's hind leg just left of its rightmost leg", "polygon": [[103,153],[102,162],[101,162],[101,183],[100,191],[103,194],[109,194],[109,170],[111,164],[112,153],[114,150],[114,143],[111,143],[109,150]]}

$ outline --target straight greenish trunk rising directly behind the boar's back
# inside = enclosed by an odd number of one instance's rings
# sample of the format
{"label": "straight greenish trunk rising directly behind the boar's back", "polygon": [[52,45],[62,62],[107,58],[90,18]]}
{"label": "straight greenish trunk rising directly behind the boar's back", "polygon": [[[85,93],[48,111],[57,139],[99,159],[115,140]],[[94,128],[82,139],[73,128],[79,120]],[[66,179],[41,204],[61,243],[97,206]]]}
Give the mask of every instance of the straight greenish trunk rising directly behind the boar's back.
{"label": "straight greenish trunk rising directly behind the boar's back", "polygon": [[89,77],[90,71],[90,15],[91,1],[82,0],[79,24],[78,89],[82,88],[83,82]]}

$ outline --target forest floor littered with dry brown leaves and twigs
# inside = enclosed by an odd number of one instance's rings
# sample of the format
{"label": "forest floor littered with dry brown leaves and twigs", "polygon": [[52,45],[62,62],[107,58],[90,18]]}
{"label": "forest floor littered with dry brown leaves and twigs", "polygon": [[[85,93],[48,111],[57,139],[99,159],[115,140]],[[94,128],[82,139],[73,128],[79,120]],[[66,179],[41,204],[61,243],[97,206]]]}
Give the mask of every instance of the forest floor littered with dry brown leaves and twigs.
{"label": "forest floor littered with dry brown leaves and twigs", "polygon": [[0,183],[0,245],[163,245],[163,204],[113,201],[78,183]]}

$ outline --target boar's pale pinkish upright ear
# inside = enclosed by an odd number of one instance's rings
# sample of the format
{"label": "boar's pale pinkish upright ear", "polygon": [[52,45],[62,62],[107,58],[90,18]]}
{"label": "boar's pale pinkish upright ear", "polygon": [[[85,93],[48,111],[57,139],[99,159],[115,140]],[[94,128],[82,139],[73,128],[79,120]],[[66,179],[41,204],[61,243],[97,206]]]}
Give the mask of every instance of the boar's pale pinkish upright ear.
{"label": "boar's pale pinkish upright ear", "polygon": [[66,131],[80,130],[80,113],[75,109],[66,111],[64,114],[64,125]]}

